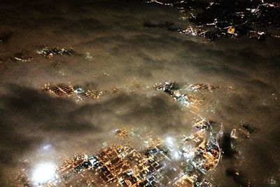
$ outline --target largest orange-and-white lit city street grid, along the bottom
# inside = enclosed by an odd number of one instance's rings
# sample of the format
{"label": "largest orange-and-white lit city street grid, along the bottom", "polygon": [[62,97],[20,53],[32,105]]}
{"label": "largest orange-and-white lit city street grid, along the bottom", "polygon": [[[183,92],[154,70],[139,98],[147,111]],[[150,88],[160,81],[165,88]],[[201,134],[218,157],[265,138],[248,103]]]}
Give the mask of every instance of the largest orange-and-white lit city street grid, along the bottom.
{"label": "largest orange-and-white lit city street grid, along the bottom", "polygon": [[[190,136],[159,139],[134,130],[115,130],[122,144],[112,144],[94,155],[73,155],[57,167],[53,179],[30,186],[211,186],[204,175],[218,164],[219,132],[212,122],[195,123]],[[141,144],[134,148],[130,142]]]}

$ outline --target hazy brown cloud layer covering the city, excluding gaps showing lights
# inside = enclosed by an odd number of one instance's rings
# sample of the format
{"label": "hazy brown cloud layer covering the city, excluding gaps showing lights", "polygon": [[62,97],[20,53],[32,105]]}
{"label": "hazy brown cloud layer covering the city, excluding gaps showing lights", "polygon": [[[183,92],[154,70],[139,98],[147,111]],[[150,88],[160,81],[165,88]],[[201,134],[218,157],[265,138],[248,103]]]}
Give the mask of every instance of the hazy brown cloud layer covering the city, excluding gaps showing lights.
{"label": "hazy brown cloud layer covering the city, excluding gaps showing lights", "polygon": [[[0,43],[3,186],[13,186],[22,160],[94,153],[121,127],[147,128],[159,137],[191,132],[197,116],[223,124],[227,133],[241,122],[257,130],[248,139],[239,138],[239,159],[224,156],[211,172],[215,186],[238,186],[239,180],[225,172],[232,167],[255,186],[266,186],[277,174],[279,179],[280,40],[205,42],[166,28],[143,27],[144,22],[184,27],[187,21],[180,18],[172,7],[142,1],[0,1],[0,33],[11,33]],[[76,55],[46,59],[36,54],[43,46],[73,48]],[[12,60],[15,53],[34,60]],[[162,81],[222,89],[208,96],[214,102],[193,113],[150,89]],[[118,95],[76,104],[41,92],[45,83],[122,89]],[[42,151],[46,144],[52,151]]]}

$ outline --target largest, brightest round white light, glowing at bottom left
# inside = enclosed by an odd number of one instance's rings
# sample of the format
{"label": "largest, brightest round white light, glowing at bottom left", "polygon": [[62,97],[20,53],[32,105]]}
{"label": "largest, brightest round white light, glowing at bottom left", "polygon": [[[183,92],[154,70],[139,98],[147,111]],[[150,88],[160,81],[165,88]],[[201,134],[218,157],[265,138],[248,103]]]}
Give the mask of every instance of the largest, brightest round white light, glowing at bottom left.
{"label": "largest, brightest round white light, glowing at bottom left", "polygon": [[52,163],[40,163],[34,168],[32,181],[35,183],[47,183],[55,178],[55,165]]}

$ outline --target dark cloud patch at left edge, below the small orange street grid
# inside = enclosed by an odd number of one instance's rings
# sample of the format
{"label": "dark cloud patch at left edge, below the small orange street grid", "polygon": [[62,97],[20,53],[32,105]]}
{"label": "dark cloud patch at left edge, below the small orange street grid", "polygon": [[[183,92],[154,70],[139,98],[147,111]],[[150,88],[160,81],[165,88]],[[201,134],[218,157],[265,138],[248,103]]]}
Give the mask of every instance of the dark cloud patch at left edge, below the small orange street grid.
{"label": "dark cloud patch at left edge, below the small orange street grid", "polygon": [[17,127],[38,124],[38,126],[34,126],[34,130],[55,129],[70,132],[89,127],[85,124],[75,124],[69,120],[71,111],[76,108],[73,102],[50,98],[29,88],[11,86],[8,95],[2,95],[1,103],[2,120],[6,120],[6,123],[18,123]]}

